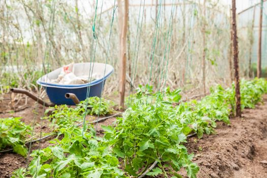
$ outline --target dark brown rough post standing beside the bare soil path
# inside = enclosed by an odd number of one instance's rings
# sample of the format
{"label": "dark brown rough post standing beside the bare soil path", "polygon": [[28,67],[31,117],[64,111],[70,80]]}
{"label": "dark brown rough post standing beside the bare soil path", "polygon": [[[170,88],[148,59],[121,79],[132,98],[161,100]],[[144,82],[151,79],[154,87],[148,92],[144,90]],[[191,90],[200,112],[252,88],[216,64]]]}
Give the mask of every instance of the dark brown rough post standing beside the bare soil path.
{"label": "dark brown rough post standing beside the bare soil path", "polygon": [[236,116],[241,116],[241,96],[240,96],[240,81],[239,81],[239,58],[238,58],[238,35],[236,32],[236,8],[235,0],[232,0],[232,41],[233,41],[233,65],[234,65],[234,79],[235,79],[235,103]]}

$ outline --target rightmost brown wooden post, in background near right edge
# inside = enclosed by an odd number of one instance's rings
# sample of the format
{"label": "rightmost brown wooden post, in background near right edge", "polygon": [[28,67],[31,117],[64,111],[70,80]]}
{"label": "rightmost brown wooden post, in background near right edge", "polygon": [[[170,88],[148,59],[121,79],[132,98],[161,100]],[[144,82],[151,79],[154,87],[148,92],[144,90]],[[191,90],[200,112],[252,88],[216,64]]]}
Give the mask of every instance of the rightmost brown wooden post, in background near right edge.
{"label": "rightmost brown wooden post, in background near right edge", "polygon": [[260,15],[259,15],[259,41],[258,41],[258,63],[257,63],[257,77],[261,77],[261,31],[262,31],[262,9],[263,0],[260,1]]}

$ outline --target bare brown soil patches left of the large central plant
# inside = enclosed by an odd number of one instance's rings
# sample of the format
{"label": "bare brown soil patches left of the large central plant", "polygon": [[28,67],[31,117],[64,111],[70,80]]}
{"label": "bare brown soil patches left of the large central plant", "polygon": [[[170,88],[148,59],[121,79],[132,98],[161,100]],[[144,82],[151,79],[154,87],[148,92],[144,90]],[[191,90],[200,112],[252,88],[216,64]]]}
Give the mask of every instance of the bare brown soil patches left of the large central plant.
{"label": "bare brown soil patches left of the large central plant", "polygon": [[[11,94],[5,94],[4,96],[4,100],[2,101],[1,105],[0,105],[0,111],[2,111],[2,113],[0,113],[0,118],[6,118],[6,117],[22,117],[21,121],[24,122],[25,124],[31,124],[34,119],[36,119],[36,122],[40,124],[41,120],[40,117],[43,116],[44,113],[44,109],[43,106],[40,104],[36,105],[36,102],[28,99],[27,104],[29,107],[25,107],[22,110],[19,110],[17,112],[14,112],[14,110],[17,109],[17,107],[21,106],[24,104],[25,102],[25,98],[23,97],[21,99],[21,101],[19,102],[19,105],[13,109],[10,109],[10,102],[11,102]],[[36,107],[37,106],[37,107]],[[46,108],[45,108],[46,109]],[[35,114],[34,111],[37,111]],[[36,117],[36,118],[35,118]],[[88,116],[86,117],[87,120],[93,120],[92,117],[96,117],[96,116]],[[100,116],[101,118],[102,116]],[[103,129],[101,128],[101,125],[112,125],[113,122],[115,121],[115,117],[111,117],[108,120],[105,120],[103,122],[101,122],[100,126],[98,127],[98,135],[103,135]],[[40,125],[37,125],[35,127],[35,131],[34,133],[40,133],[40,131],[42,131],[42,133],[48,133],[49,132],[49,122],[47,120],[43,120],[43,127],[41,129]],[[49,137],[47,139],[43,139],[40,142],[35,142],[33,143],[32,146],[32,151],[33,150],[37,150],[39,149],[44,149],[45,147],[49,146],[49,145],[53,145],[51,143],[49,143],[49,141],[51,139],[53,139],[53,137]],[[39,144],[40,143],[40,144]],[[29,161],[31,161],[31,157],[29,157]],[[21,155],[18,155],[16,153],[0,153],[0,178],[8,178],[12,175],[12,172],[20,167],[26,167],[27,165],[27,158],[22,157]]]}

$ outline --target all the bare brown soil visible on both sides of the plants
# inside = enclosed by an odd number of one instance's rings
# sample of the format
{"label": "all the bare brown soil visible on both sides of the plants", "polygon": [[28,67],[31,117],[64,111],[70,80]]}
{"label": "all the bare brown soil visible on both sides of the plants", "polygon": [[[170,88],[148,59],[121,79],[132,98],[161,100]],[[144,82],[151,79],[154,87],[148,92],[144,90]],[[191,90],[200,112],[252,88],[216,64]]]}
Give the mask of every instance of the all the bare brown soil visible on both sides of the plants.
{"label": "all the bare brown soil visible on both sides of the plants", "polygon": [[[22,99],[20,102],[23,105],[25,101]],[[197,177],[267,177],[267,96],[264,96],[264,102],[255,109],[245,109],[243,117],[232,118],[230,126],[218,122],[216,134],[188,139],[188,152],[195,154],[193,161],[200,167]],[[0,103],[0,118],[22,116],[22,121],[31,124],[36,117],[37,123],[40,122],[42,106],[35,109],[35,102],[29,99],[30,107],[13,112],[16,108],[10,108],[9,103],[9,99]],[[100,123],[98,128],[102,124],[112,125],[114,121],[115,118],[110,118]],[[35,131],[38,130],[41,130],[40,125],[36,126]],[[49,131],[48,123],[43,124],[42,130]],[[101,132],[101,129],[98,131]],[[48,140],[42,140],[40,144],[34,143],[33,149],[49,144]],[[14,153],[0,154],[0,178],[10,177],[13,170],[24,167],[26,162]],[[182,171],[182,174],[186,177],[185,172]]]}

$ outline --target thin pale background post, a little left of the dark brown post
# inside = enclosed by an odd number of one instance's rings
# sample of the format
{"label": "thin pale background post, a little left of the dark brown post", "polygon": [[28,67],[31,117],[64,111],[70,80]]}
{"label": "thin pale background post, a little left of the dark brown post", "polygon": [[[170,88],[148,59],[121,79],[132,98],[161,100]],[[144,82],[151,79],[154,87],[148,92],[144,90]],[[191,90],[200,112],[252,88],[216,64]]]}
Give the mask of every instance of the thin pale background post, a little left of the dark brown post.
{"label": "thin pale background post, a little left of the dark brown post", "polygon": [[206,95],[206,0],[203,2],[203,28],[202,28],[202,34],[203,34],[203,55],[202,55],[202,82],[203,82],[203,95]]}

